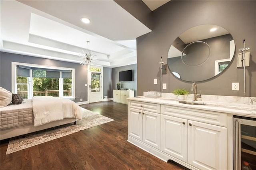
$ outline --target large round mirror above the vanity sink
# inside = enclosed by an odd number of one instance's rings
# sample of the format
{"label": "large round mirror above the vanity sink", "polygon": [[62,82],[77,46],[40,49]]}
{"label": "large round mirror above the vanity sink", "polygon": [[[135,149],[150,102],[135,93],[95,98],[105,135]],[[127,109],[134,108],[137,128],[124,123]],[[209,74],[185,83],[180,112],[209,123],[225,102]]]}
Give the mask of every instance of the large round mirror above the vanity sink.
{"label": "large round mirror above the vanity sink", "polygon": [[170,71],[184,81],[204,81],[223,72],[235,53],[231,34],[216,25],[200,25],[183,32],[168,52]]}

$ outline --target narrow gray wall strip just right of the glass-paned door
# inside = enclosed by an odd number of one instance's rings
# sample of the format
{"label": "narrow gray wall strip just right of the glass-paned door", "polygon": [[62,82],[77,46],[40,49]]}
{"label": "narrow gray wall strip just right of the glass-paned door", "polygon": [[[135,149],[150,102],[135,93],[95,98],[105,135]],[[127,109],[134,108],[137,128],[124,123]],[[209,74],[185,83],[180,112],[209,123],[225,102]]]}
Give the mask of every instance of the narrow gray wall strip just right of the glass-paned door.
{"label": "narrow gray wall strip just right of the glass-paned door", "polygon": [[112,98],[112,68],[103,67],[103,96]]}

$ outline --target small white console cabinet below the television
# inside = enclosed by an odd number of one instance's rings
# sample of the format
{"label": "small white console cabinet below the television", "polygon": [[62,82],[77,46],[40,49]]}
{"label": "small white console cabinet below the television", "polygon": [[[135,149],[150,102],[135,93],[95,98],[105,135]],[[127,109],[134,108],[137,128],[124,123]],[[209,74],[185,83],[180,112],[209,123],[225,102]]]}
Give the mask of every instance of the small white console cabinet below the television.
{"label": "small white console cabinet below the television", "polygon": [[113,101],[127,105],[127,98],[134,97],[133,90],[113,90]]}

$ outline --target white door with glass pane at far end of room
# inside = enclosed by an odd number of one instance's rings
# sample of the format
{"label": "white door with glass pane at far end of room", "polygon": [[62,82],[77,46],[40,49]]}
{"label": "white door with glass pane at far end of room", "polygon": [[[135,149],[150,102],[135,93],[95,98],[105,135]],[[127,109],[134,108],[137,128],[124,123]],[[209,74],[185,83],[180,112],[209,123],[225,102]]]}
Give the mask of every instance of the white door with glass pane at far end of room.
{"label": "white door with glass pane at far end of room", "polygon": [[90,72],[89,74],[89,103],[102,101],[102,75]]}

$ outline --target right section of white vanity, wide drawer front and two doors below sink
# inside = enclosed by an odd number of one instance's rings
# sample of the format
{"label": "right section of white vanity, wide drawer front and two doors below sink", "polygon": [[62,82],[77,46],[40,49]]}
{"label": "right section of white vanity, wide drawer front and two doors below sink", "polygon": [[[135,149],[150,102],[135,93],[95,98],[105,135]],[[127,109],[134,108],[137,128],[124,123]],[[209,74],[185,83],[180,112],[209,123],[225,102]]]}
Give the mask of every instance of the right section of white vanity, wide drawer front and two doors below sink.
{"label": "right section of white vanity, wide drawer front and two doors below sink", "polygon": [[161,106],[161,150],[198,169],[227,169],[225,113]]}

